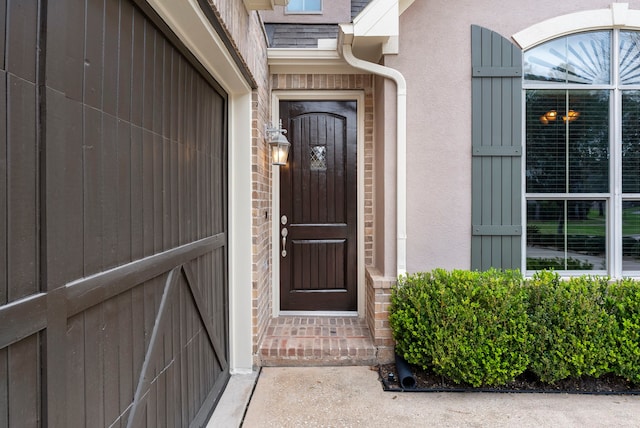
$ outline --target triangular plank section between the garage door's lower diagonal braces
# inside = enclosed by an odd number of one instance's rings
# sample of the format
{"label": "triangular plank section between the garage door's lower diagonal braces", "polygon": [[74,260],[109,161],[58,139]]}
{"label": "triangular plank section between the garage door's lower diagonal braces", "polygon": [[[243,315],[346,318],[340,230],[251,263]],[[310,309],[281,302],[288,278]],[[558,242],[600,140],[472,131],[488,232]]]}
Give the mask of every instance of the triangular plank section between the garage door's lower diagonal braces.
{"label": "triangular plank section between the garage door's lower diagonal braces", "polygon": [[210,340],[192,286],[178,268],[161,287],[141,373],[134,367],[138,381],[129,415],[134,426],[172,425],[178,414],[182,422],[192,421],[226,370],[226,357],[220,358]]}

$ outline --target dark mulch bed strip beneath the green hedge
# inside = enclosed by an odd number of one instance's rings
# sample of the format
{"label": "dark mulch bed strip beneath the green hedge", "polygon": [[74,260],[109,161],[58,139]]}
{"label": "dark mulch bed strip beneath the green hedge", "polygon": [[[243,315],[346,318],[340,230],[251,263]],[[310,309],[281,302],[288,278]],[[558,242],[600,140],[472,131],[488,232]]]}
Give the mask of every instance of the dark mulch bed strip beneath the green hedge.
{"label": "dark mulch bed strip beneath the green hedge", "polygon": [[[398,381],[395,364],[385,364],[378,367],[380,381],[385,391],[394,392],[544,392],[544,393],[573,393],[573,394],[630,394],[640,395],[640,385],[634,385],[627,380],[606,375],[600,378],[582,377],[567,379],[554,385],[540,382],[531,373],[523,373],[513,382],[497,387],[475,388],[471,385],[456,384],[440,375],[411,366],[416,380],[416,387],[403,389]],[[392,376],[389,376],[392,374]]]}

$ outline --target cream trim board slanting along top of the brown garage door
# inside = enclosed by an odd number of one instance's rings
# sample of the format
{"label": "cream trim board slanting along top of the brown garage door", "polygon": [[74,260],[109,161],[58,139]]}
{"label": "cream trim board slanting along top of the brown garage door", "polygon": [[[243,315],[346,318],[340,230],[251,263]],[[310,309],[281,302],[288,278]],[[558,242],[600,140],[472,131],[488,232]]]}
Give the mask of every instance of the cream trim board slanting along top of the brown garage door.
{"label": "cream trim board slanting along top of the brown garage door", "polygon": [[147,2],[227,92],[251,90],[197,0]]}

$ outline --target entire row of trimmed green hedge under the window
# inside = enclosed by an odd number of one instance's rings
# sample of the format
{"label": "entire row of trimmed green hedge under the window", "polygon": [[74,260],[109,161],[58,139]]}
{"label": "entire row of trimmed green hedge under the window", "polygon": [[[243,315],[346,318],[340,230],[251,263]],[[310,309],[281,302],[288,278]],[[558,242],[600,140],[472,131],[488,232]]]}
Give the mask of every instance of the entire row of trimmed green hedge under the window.
{"label": "entire row of trimmed green hedge under the window", "polygon": [[399,278],[389,323],[410,364],[473,386],[612,373],[640,383],[640,283],[542,271]]}

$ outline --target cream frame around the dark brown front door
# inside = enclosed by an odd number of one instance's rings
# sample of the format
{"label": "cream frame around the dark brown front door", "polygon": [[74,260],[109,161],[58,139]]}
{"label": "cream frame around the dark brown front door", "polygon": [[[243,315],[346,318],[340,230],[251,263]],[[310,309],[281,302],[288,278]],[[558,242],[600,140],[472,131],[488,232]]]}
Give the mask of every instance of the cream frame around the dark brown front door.
{"label": "cream frame around the dark brown front door", "polygon": [[271,94],[271,122],[277,123],[280,117],[280,101],[355,101],[357,106],[357,193],[358,193],[358,310],[357,311],[281,311],[280,310],[280,170],[271,166],[271,290],[273,317],[280,315],[365,315],[365,271],[364,271],[364,92],[363,91],[273,91]]}

